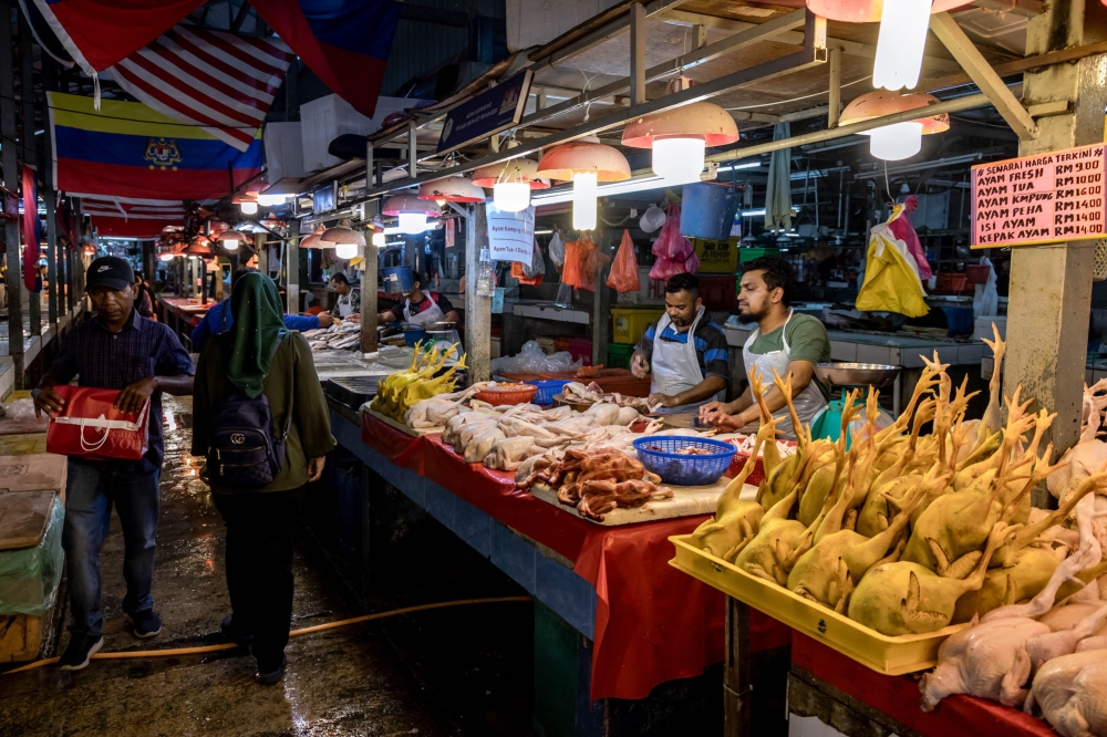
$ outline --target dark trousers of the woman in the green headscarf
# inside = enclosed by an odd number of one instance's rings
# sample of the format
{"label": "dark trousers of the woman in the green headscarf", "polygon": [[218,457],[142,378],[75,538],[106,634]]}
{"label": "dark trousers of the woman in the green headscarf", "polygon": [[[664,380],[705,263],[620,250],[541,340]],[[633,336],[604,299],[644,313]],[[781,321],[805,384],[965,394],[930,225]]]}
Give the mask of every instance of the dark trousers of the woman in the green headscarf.
{"label": "dark trousers of the woman in the green headscarf", "polygon": [[292,620],[292,531],[301,492],[214,494],[227,523],[227,590],[235,629],[254,634],[258,669],[276,669]]}

